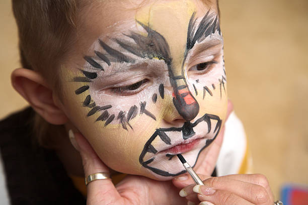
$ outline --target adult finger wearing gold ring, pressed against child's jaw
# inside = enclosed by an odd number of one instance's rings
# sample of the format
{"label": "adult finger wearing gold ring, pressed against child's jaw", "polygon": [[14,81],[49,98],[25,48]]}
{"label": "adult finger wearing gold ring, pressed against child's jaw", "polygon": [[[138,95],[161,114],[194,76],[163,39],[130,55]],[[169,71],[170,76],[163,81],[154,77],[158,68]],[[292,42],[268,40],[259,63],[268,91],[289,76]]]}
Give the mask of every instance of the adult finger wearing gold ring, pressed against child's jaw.
{"label": "adult finger wearing gold ring, pressed against child's jaw", "polygon": [[[80,133],[73,133],[73,135],[79,146],[85,176],[98,172],[109,173],[109,168],[100,160],[86,138]],[[121,196],[111,179],[94,180],[87,185],[87,204],[116,204],[120,200]]]}

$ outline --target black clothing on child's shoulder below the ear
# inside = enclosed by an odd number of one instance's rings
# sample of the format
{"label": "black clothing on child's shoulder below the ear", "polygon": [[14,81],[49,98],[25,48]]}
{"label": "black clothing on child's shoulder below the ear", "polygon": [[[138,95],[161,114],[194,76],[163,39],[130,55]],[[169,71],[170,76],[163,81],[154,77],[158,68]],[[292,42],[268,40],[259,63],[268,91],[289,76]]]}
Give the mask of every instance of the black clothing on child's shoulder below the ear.
{"label": "black clothing on child's shoulder below the ear", "polygon": [[54,150],[33,140],[34,111],[0,122],[0,150],[11,204],[86,204]]}

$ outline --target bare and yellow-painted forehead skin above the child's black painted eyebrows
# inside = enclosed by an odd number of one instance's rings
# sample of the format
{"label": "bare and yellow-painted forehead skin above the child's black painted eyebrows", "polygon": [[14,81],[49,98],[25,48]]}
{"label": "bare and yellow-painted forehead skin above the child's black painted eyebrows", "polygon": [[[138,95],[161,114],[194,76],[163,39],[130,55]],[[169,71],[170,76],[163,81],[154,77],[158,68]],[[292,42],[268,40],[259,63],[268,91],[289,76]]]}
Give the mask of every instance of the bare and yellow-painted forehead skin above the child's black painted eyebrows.
{"label": "bare and yellow-painted forehead skin above the child's black painted eyebrows", "polygon": [[[173,56],[183,55],[183,49],[187,42],[188,25],[195,16],[195,21],[198,23],[207,13],[216,13],[215,5],[212,9],[209,5],[202,1],[181,0],[181,1],[146,1],[147,4],[141,4],[135,9],[114,8],[113,17],[110,17],[110,11],[107,14],[95,15],[101,24],[97,24],[100,32],[97,32],[96,39],[93,39],[92,46],[89,52],[100,47],[98,39],[106,43],[115,44],[116,38],[124,38],[131,32],[137,32],[147,35],[147,32],[140,25],[144,24],[162,35],[170,46],[170,51]],[[123,5],[122,5],[123,6]],[[113,8],[113,7],[111,7]],[[104,17],[105,16],[105,17]],[[104,19],[105,21],[102,21]],[[93,28],[96,28],[92,26]],[[119,45],[115,45],[118,46]],[[174,63],[176,59],[174,59]],[[181,60],[179,58],[179,62]]]}

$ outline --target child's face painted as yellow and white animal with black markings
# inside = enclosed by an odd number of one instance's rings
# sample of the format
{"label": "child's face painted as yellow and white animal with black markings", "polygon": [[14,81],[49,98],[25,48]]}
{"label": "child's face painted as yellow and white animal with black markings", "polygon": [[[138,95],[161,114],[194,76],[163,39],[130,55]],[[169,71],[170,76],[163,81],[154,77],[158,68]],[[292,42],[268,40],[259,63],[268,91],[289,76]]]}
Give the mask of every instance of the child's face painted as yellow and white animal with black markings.
{"label": "child's face painted as yellow and white animal with black markings", "polygon": [[107,166],[164,180],[184,171],[176,154],[194,165],[222,126],[223,41],[200,1],[146,2],[85,11],[60,73],[63,110]]}

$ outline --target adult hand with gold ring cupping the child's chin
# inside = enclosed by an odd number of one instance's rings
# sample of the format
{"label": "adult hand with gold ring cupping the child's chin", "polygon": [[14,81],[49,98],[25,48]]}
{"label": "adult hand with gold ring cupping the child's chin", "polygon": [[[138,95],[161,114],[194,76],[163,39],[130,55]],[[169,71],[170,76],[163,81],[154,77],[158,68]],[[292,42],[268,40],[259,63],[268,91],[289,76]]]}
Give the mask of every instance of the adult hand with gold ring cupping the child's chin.
{"label": "adult hand with gold ring cupping the child's chin", "polygon": [[[83,160],[85,175],[110,172],[89,142],[80,133],[74,133]],[[179,188],[171,181],[156,181],[143,176],[127,175],[116,186],[111,179],[94,180],[87,185],[88,205],[125,204],[186,204],[179,196]]]}

